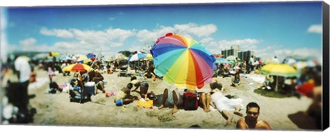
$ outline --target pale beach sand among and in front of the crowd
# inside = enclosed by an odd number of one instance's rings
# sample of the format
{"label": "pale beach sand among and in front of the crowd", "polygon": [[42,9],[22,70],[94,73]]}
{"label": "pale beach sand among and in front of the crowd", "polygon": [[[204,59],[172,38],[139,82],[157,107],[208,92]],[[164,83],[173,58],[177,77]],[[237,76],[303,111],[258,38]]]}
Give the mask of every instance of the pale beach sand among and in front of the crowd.
{"label": "pale beach sand among and in front of the crowd", "polygon": [[[129,71],[133,72],[133,71]],[[53,80],[62,85],[67,82],[71,76],[63,76],[58,74]],[[129,77],[118,77],[118,72],[114,74],[102,74],[107,82],[106,91],[118,92],[130,82]],[[258,79],[256,79],[258,78]],[[143,78],[138,77],[139,80]],[[221,83],[226,88],[224,94],[239,96],[243,99],[243,105],[248,102],[257,102],[261,106],[259,118],[267,121],[274,130],[301,130],[308,129],[314,124],[313,120],[307,122],[307,118],[301,113],[305,111],[311,99],[301,97],[287,98],[269,98],[253,91],[262,80],[261,75],[248,75],[242,78],[241,86],[230,87],[230,78],[219,77]],[[254,81],[256,80],[256,81]],[[36,97],[30,100],[32,107],[37,110],[34,115],[33,125],[47,126],[120,126],[120,127],[157,127],[157,128],[189,128],[197,124],[201,129],[235,129],[236,121],[239,120],[238,115],[234,115],[232,124],[225,126],[225,119],[219,111],[213,109],[206,113],[201,107],[196,111],[184,111],[179,109],[174,115],[171,114],[172,108],[157,109],[162,100],[160,96],[165,88],[173,89],[173,85],[169,85],[163,80],[146,80],[149,83],[149,91],[154,91],[159,95],[158,102],[155,102],[153,109],[144,109],[136,106],[136,101],[124,105],[124,107],[116,107],[113,98],[106,98],[105,94],[96,94],[92,96],[92,102],[83,104],[77,102],[69,102],[69,94],[56,93],[46,94],[49,88],[49,80],[47,72],[37,70],[37,81],[31,83],[29,94],[35,94]],[[210,91],[209,85],[205,85],[198,91]],[[233,111],[230,111],[232,113]],[[241,111],[245,116],[245,109]],[[304,127],[305,126],[305,127]]]}

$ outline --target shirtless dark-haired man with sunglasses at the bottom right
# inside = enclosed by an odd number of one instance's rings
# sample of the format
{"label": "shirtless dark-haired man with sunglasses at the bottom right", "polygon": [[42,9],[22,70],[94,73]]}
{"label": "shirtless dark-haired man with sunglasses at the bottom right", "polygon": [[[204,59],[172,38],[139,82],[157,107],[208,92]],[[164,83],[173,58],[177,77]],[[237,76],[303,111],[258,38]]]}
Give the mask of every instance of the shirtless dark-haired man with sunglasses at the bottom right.
{"label": "shirtless dark-haired man with sunglasses at the bottom right", "polygon": [[267,129],[270,130],[270,124],[258,119],[260,107],[256,102],[250,102],[246,106],[246,116],[237,121],[237,129]]}

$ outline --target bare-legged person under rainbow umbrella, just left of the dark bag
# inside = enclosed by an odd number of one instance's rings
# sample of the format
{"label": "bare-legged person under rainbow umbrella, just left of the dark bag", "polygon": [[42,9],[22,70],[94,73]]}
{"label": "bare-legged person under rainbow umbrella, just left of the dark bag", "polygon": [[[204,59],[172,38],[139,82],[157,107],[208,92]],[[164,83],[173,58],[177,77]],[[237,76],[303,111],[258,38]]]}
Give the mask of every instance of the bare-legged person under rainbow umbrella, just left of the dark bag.
{"label": "bare-legged person under rainbow umbrella, just left of the dark bag", "polygon": [[182,106],[184,104],[183,96],[184,96],[184,91],[178,91],[177,88],[175,88],[173,91],[168,91],[168,89],[165,89],[163,94],[162,105],[160,105],[158,109],[163,109],[167,101],[169,104],[173,104],[172,114],[176,113],[177,107]]}

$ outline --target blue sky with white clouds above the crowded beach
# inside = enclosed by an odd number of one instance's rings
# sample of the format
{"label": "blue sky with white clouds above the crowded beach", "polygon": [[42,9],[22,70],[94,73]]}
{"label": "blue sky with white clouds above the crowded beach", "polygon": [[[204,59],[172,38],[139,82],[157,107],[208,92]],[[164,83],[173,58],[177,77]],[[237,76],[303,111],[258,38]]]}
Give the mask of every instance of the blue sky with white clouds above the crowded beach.
{"label": "blue sky with white clouds above the crowded beach", "polygon": [[240,45],[263,59],[321,57],[322,3],[219,3],[7,8],[8,50],[98,53],[147,50],[176,32],[214,54]]}

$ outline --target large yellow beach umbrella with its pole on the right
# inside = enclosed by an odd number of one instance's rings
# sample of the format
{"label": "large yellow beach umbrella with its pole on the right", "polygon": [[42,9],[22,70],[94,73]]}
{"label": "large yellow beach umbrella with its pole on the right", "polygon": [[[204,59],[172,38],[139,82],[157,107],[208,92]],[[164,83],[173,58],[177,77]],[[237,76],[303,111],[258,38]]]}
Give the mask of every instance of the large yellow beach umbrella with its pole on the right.
{"label": "large yellow beach umbrella with its pole on the right", "polygon": [[[284,76],[284,77],[292,77],[297,76],[298,72],[294,67],[287,64],[276,64],[270,63],[261,67],[260,72],[263,74],[270,74],[272,76]],[[275,91],[278,91],[278,79],[276,79],[276,88]]]}

